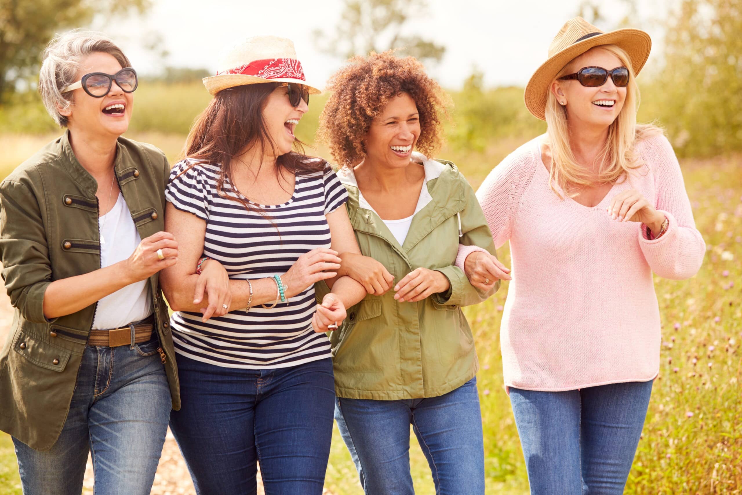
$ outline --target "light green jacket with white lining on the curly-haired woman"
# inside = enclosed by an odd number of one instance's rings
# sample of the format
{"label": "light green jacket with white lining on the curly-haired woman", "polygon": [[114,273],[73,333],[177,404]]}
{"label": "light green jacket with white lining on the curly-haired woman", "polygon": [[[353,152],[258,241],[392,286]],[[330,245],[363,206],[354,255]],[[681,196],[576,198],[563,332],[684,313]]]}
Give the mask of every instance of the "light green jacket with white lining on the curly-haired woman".
{"label": "light green jacket with white lining on the curly-haired woman", "polygon": [[[399,303],[394,290],[367,295],[347,309],[331,332],[335,391],[349,399],[419,399],[441,396],[469,381],[479,370],[474,339],[461,306],[485,301],[499,287],[480,292],[454,265],[459,243],[495,254],[485,214],[474,191],[453,163],[424,160],[432,198],[413,217],[400,246],[378,214],[361,200],[355,177],[338,172],[348,191],[346,203],[361,253],[381,262],[397,283],[423,266],[438,270],[450,289],[419,302]],[[361,206],[364,203],[367,207]],[[318,300],[328,292],[317,284]]]}

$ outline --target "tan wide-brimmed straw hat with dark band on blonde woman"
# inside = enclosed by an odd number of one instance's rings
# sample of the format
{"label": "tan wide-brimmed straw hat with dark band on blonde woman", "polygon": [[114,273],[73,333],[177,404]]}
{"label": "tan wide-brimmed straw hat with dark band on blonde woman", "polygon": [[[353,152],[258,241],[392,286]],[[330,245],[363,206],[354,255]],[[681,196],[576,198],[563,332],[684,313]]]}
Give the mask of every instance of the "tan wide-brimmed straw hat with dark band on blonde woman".
{"label": "tan wide-brimmed straw hat with dark band on blonde woman", "polygon": [[559,71],[572,59],[598,45],[617,45],[628,53],[634,74],[644,67],[651,50],[649,34],[638,29],[619,29],[603,33],[582,17],[570,19],[549,45],[549,58],[531,76],[525,87],[525,106],[531,114],[545,120],[546,96]]}

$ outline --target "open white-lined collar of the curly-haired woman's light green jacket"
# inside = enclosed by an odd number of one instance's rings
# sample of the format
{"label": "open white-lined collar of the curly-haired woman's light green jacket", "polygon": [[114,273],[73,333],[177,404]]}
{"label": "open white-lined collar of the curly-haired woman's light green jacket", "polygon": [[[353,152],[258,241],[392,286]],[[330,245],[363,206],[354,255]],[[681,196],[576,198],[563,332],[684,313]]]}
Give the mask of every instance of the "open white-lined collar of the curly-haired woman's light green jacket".
{"label": "open white-lined collar of the curly-haired woman's light green jacket", "polygon": [[413,161],[425,168],[426,184],[421,192],[421,199],[424,200],[418,201],[415,217],[402,246],[384,220],[364,200],[352,168],[346,166],[338,171],[338,178],[348,191],[348,210],[353,229],[382,237],[405,259],[410,249],[443,220],[462,211],[465,205],[464,189],[456,165],[446,160],[432,160],[417,152],[413,153]]}

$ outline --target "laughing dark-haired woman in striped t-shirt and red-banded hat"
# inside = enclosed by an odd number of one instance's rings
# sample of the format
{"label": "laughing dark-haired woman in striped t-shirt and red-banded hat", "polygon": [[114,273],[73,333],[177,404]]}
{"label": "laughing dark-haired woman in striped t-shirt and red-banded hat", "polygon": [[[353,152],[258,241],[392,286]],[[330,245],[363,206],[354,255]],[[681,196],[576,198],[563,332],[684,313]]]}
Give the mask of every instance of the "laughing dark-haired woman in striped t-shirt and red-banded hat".
{"label": "laughing dark-haired woman in striped t-shirt and red-banded hat", "polygon": [[[273,36],[232,48],[204,84],[214,99],[165,191],[165,227],[184,246],[162,274],[183,394],[171,428],[199,494],[255,494],[260,462],[266,494],[319,495],[335,404],[324,332],[366,294],[341,277],[315,304],[315,282],[359,252],[335,172],[292,151],[320,91]],[[230,295],[209,321],[206,272]]]}

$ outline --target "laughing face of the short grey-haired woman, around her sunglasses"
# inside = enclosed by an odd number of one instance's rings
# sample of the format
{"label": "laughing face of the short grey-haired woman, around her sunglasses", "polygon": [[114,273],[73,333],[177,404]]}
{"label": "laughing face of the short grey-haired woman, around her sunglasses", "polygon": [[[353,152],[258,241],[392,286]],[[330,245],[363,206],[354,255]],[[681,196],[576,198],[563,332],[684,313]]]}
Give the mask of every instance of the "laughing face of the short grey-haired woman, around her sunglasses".
{"label": "laughing face of the short grey-haired woman, around her sunglasses", "polygon": [[[115,74],[122,69],[121,64],[109,53],[91,53],[82,62],[82,69],[76,80],[91,72]],[[94,98],[83,88],[73,91],[70,108],[59,111],[68,117],[68,128],[72,131],[104,134],[119,137],[129,127],[131,111],[134,108],[134,93],[125,93],[114,80],[111,89],[102,98]]]}

